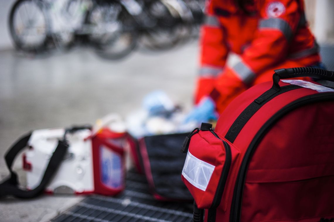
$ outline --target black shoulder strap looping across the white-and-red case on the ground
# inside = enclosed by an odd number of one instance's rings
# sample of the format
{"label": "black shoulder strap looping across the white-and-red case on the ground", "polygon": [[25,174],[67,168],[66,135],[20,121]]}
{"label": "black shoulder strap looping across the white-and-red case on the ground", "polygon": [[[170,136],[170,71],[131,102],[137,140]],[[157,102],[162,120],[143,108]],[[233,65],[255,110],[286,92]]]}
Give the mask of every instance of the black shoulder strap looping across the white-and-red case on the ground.
{"label": "black shoulder strap looping across the white-and-red case on the ground", "polygon": [[22,136],[16,143],[12,145],[9,151],[5,155],[5,161],[10,171],[10,178],[0,184],[0,198],[13,195],[18,198],[33,198],[38,196],[50,182],[53,175],[57,171],[60,162],[63,160],[64,155],[68,148],[66,140],[59,140],[58,145],[53,152],[53,155],[46,167],[43,178],[40,184],[33,190],[21,190],[18,187],[17,174],[13,172],[12,165],[16,155],[27,146],[30,139],[31,132]]}

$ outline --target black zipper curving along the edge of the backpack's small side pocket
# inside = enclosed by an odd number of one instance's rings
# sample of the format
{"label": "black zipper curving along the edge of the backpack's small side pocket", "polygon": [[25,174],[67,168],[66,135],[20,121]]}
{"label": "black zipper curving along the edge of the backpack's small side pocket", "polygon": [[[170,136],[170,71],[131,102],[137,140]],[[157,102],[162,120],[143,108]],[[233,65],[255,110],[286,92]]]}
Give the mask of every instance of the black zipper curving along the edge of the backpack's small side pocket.
{"label": "black zipper curving along the edge of the backpack's small side pocket", "polygon": [[[226,159],[225,159],[225,163],[224,163],[224,166],[223,166],[223,172],[222,172],[222,175],[221,176],[224,176],[224,177],[221,177],[222,179],[219,178],[219,181],[218,181],[218,186],[217,186],[217,189],[221,189],[220,190],[217,190],[216,191],[216,194],[215,194],[215,197],[212,201],[212,204],[211,204],[211,207],[210,208],[217,208],[218,206],[218,200],[220,199],[221,201],[221,197],[222,197],[222,193],[223,193],[223,190],[224,190],[224,187],[225,187],[225,183],[226,183],[226,179],[227,179],[227,175],[228,175],[228,172],[229,172],[229,168],[231,166],[231,152],[230,152],[230,146],[225,142],[223,141],[222,139],[219,138],[219,136],[213,132],[213,131],[210,131],[217,139],[219,139],[220,141],[223,142],[223,145],[224,145],[224,148],[225,148],[225,153],[226,153]],[[227,166],[225,166],[227,165]],[[225,173],[227,171],[227,173]],[[219,203],[220,203],[219,201]]]}

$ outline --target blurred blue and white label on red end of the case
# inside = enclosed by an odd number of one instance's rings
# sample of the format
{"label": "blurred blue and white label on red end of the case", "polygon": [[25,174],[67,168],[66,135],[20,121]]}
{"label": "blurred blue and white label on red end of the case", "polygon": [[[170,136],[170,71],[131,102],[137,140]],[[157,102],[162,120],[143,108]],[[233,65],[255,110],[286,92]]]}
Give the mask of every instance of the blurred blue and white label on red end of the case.
{"label": "blurred blue and white label on red end of the case", "polygon": [[112,189],[122,186],[122,157],[108,147],[100,146],[101,182]]}

